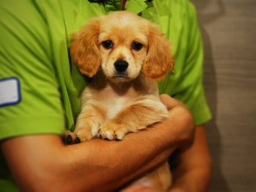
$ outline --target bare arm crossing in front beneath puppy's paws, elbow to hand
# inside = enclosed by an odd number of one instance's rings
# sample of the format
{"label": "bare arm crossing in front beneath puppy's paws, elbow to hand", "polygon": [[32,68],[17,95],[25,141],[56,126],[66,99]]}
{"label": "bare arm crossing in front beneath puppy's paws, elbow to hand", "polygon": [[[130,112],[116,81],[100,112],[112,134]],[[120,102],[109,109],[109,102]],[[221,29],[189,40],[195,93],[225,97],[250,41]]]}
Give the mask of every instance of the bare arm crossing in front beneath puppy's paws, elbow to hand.
{"label": "bare arm crossing in front beneath puppy's paws, elbow to hand", "polygon": [[161,96],[169,118],[122,141],[65,146],[57,135],[4,140],[3,153],[21,191],[112,191],[192,141],[193,119],[180,102]]}

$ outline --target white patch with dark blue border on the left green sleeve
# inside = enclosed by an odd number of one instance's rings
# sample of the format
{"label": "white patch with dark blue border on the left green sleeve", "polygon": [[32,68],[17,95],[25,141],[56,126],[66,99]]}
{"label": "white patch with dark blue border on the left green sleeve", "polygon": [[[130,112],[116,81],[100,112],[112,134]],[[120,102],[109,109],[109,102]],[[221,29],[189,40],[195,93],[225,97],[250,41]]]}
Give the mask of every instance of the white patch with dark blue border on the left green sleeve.
{"label": "white patch with dark blue border on the left green sleeve", "polygon": [[20,102],[20,82],[15,77],[0,79],[0,106]]}

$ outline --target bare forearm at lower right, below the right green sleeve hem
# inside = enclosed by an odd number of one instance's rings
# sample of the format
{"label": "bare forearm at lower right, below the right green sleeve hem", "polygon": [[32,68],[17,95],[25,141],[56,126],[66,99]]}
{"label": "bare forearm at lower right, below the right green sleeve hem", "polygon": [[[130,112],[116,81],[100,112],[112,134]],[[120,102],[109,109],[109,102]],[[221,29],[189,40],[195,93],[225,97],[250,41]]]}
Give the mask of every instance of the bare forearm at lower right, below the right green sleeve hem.
{"label": "bare forearm at lower right, below the right green sleeve hem", "polygon": [[206,192],[211,177],[211,158],[204,126],[196,128],[193,145],[178,155],[178,161],[170,192]]}

